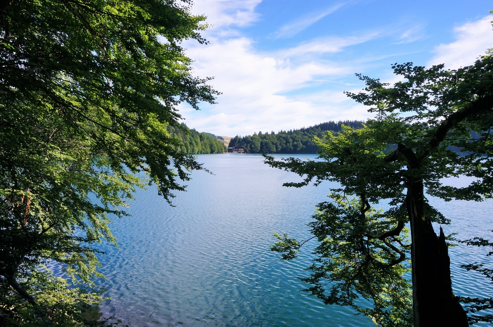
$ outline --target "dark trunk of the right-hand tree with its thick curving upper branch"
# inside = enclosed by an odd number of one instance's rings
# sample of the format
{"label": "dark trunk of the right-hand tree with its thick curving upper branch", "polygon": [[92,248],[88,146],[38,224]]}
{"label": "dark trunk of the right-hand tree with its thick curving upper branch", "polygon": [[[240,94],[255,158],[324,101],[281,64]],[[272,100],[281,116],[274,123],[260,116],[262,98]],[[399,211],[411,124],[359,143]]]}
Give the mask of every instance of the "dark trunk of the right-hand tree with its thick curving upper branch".
{"label": "dark trunk of the right-hand tree with its thick curving upper branch", "polygon": [[414,327],[466,327],[467,314],[452,291],[450,258],[445,235],[440,228],[437,236],[431,221],[424,214],[424,186],[420,178],[421,160],[445,139],[458,123],[478,114],[491,111],[493,96],[468,103],[450,114],[436,129],[428,143],[429,150],[418,157],[402,144],[389,154],[387,162],[403,156],[407,162],[406,207],[411,224],[411,261],[413,277]]}

